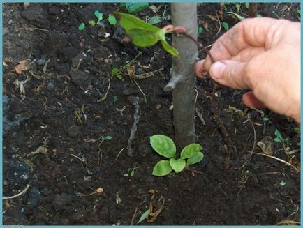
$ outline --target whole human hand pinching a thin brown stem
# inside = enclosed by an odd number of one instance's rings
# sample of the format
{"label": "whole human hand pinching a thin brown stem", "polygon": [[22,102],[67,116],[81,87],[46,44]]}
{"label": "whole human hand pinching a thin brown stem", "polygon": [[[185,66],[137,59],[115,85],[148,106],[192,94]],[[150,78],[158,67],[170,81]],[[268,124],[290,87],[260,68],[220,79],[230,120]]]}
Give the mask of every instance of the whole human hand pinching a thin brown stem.
{"label": "whole human hand pinching a thin brown stem", "polygon": [[223,34],[195,73],[219,84],[249,89],[248,107],[267,107],[300,123],[300,23],[272,18],[242,20]]}

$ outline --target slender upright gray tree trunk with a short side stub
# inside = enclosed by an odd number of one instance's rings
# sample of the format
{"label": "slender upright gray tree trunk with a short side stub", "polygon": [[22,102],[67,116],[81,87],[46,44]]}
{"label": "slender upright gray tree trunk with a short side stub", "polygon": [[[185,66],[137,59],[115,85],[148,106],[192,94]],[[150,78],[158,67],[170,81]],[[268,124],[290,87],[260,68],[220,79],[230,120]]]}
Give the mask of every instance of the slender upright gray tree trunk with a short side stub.
{"label": "slender upright gray tree trunk with a short side stub", "polygon": [[[197,39],[197,4],[171,3],[172,24],[184,26]],[[175,142],[179,148],[195,142],[195,62],[197,45],[186,36],[173,36],[172,46],[179,56],[172,58],[172,78],[165,91],[172,91],[174,105]]]}

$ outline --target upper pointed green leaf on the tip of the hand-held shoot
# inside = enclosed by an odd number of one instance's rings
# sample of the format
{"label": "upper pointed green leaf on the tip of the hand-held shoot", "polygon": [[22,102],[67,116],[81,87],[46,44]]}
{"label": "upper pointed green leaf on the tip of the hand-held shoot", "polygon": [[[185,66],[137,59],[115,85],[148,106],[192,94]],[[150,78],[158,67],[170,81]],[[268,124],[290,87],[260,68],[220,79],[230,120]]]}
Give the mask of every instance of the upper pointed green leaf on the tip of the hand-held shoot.
{"label": "upper pointed green leaf on the tip of the hand-held shoot", "polygon": [[118,17],[119,24],[126,31],[130,29],[145,29],[148,31],[155,31],[155,32],[161,30],[160,28],[151,25],[143,20],[140,20],[138,17],[135,17],[134,15],[130,15],[128,13],[113,12],[112,14]]}

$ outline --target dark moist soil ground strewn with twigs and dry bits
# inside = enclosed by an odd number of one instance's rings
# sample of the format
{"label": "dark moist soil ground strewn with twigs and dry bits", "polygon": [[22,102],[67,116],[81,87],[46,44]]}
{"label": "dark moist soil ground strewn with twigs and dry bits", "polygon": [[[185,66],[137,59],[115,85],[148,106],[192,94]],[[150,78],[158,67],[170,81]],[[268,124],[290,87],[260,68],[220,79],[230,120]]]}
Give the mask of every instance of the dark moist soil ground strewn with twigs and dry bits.
{"label": "dark moist soil ground strewn with twigs and dry bits", "polygon": [[[169,3],[154,5],[161,6],[158,15],[165,6],[169,15]],[[202,173],[151,176],[161,158],[151,149],[149,136],[174,137],[172,94],[163,92],[171,57],[160,45],[139,48],[123,43],[123,29],[107,20],[103,27],[87,24],[95,19],[95,10],[107,19],[118,9],[119,3],[3,4],[3,196],[16,195],[30,185],[23,195],[3,200],[3,223],[131,225],[133,218],[136,224],[147,211],[149,190],[155,191],[154,210],[164,201],[152,225],[300,222],[300,173],[273,158],[249,153],[262,153],[257,142],[274,139],[277,129],[284,143],[274,142],[269,152],[300,169],[300,151],[288,155],[300,150],[297,125],[266,109],[247,109],[242,114],[243,91],[218,89],[216,103],[232,141],[226,160],[223,135],[209,97],[201,91],[211,91],[207,79],[197,80],[202,119],[195,119],[196,142],[202,145],[205,159],[192,167]],[[299,3],[258,5],[263,17],[293,21],[299,20],[299,9]],[[216,35],[216,13],[230,27],[238,22],[226,11],[237,13],[235,3],[199,4],[198,22],[204,26],[199,40],[205,46],[224,33],[221,28]],[[239,15],[247,14],[242,3]],[[136,15],[145,19],[155,13],[147,8]],[[78,29],[81,22],[87,24],[83,31]],[[170,23],[167,17],[157,26]],[[105,38],[105,33],[110,36]],[[125,66],[139,52],[135,75],[157,70],[153,77],[136,80],[147,102],[126,70],[123,80],[109,79],[112,68]],[[26,59],[29,69],[14,72]],[[137,96],[140,121],[129,157]],[[101,98],[105,99],[98,102]],[[132,176],[134,167],[138,168]],[[98,188],[103,192],[89,195]]]}

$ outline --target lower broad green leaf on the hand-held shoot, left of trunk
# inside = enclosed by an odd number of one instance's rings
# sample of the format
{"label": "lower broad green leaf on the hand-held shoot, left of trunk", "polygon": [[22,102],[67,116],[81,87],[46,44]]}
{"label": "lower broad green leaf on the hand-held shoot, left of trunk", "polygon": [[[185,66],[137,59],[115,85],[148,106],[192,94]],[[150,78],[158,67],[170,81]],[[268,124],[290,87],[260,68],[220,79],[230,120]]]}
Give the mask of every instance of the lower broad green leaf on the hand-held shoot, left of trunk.
{"label": "lower broad green leaf on the hand-held shoot, left of trunk", "polygon": [[126,35],[131,38],[134,45],[140,47],[147,47],[154,45],[158,42],[158,33],[145,29],[130,29],[126,31]]}

